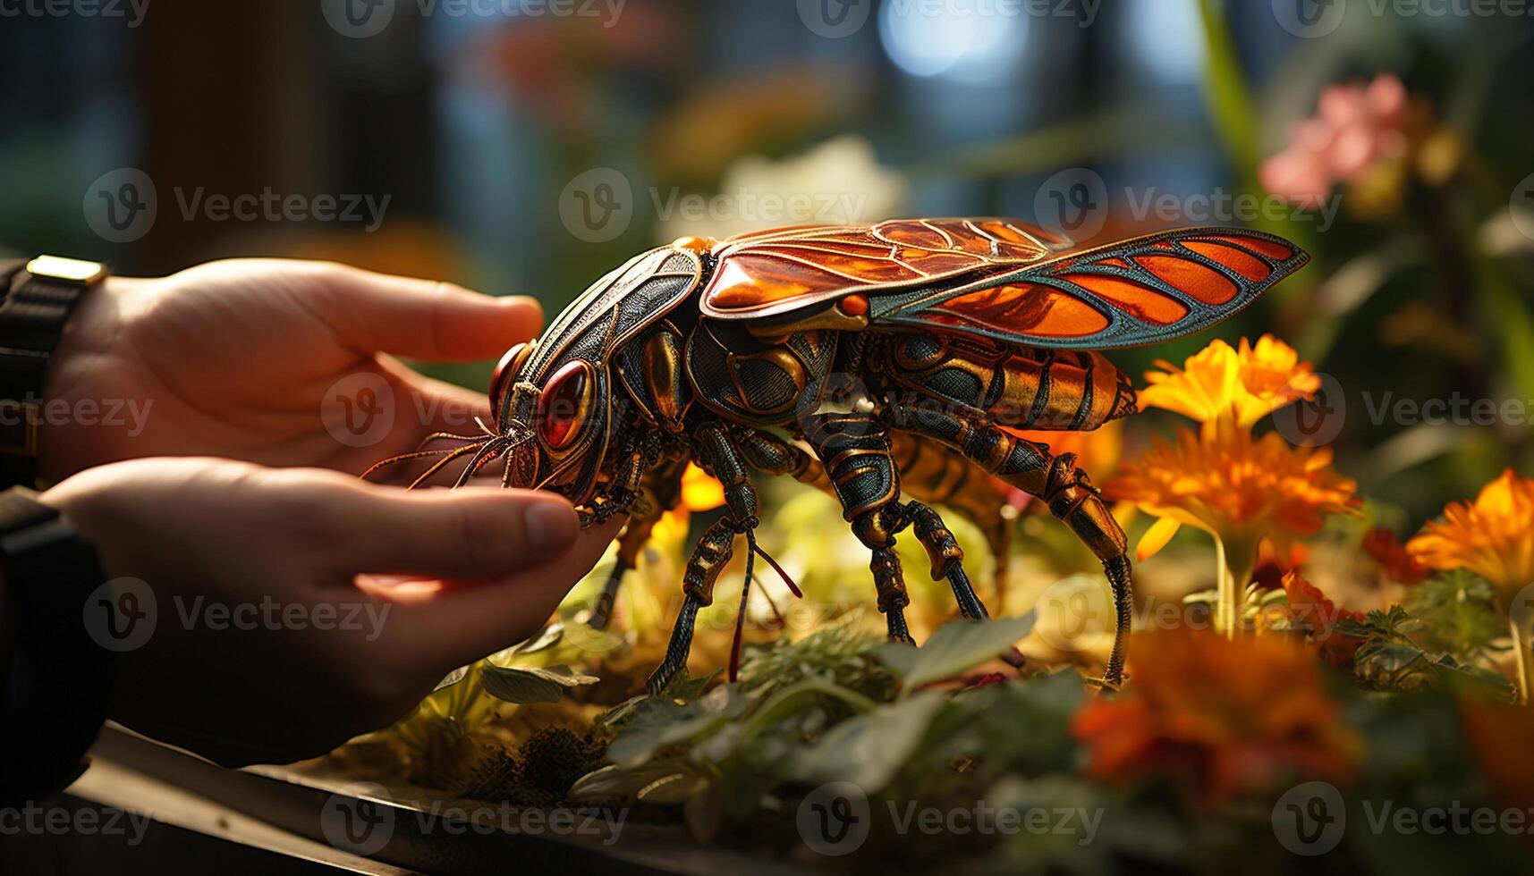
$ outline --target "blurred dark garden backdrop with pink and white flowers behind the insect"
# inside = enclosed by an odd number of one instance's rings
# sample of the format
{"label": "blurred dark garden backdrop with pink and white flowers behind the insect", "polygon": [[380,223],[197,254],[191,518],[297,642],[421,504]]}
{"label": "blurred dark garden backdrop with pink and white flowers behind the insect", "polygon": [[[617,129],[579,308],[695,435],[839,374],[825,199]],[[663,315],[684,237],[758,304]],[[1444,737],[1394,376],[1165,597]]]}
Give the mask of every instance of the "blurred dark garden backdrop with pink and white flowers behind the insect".
{"label": "blurred dark garden backdrop with pink and white flowers behind the insect", "polygon": [[1332,379],[1287,437],[1414,529],[1534,471],[1531,6],[0,0],[0,247],[324,258],[557,308],[681,233],[1253,226],[1315,262],[1115,361],[1140,382],[1276,333]]}

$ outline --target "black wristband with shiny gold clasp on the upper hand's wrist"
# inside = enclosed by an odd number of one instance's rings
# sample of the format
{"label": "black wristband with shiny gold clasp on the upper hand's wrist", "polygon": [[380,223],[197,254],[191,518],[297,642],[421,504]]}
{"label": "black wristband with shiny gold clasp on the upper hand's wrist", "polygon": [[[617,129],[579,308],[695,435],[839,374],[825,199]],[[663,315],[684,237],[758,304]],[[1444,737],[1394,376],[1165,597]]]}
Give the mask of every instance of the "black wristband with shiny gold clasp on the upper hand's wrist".
{"label": "black wristband with shiny gold clasp on the upper hand's wrist", "polygon": [[35,485],[48,362],[75,305],[106,278],[98,262],[60,256],[0,265],[0,486]]}

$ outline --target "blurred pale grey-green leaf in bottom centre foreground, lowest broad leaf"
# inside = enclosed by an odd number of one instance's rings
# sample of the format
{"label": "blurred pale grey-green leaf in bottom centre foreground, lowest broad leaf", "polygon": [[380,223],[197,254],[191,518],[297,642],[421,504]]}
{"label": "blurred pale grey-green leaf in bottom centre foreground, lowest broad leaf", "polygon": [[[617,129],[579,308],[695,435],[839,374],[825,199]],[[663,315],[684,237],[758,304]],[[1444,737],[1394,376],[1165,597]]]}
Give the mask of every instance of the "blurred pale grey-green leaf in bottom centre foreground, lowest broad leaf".
{"label": "blurred pale grey-green leaf in bottom centre foreground, lowest broad leaf", "polygon": [[928,690],[848,718],[819,744],[804,749],[795,772],[805,781],[848,781],[864,793],[876,793],[911,759],[946,701],[943,693]]}

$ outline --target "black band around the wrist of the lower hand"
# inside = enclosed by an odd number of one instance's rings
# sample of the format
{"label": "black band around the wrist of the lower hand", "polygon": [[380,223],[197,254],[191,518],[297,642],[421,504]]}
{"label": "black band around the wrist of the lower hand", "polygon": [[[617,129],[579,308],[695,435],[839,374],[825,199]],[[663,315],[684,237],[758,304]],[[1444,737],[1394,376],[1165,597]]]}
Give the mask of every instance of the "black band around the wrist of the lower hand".
{"label": "black band around the wrist of the lower hand", "polygon": [[95,549],[31,489],[0,492],[0,569],[14,631],[0,701],[0,805],[18,805],[84,769],[115,660],[86,624],[86,600],[106,577]]}

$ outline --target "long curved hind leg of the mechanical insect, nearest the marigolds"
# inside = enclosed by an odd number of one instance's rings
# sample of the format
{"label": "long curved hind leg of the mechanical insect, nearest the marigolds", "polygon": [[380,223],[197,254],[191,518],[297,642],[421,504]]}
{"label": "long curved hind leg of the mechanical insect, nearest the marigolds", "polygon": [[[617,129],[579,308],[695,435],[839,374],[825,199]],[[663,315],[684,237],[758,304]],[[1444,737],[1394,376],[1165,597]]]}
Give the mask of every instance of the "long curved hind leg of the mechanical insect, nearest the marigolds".
{"label": "long curved hind leg of the mechanical insect, nearest the marigolds", "polygon": [[1075,454],[1052,456],[1045,445],[928,405],[890,403],[885,417],[894,428],[934,437],[1006,483],[1037,496],[1097,554],[1114,589],[1115,614],[1114,650],[1103,680],[1108,684],[1121,683],[1124,634],[1132,621],[1129,540],[1086,473],[1075,466]]}

